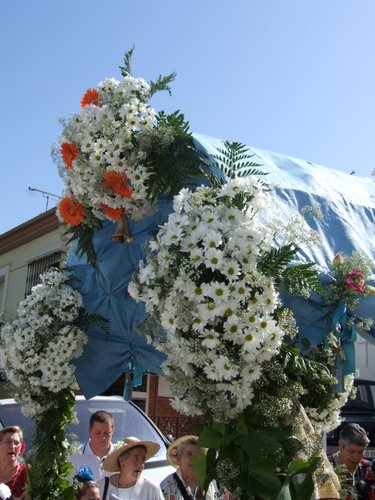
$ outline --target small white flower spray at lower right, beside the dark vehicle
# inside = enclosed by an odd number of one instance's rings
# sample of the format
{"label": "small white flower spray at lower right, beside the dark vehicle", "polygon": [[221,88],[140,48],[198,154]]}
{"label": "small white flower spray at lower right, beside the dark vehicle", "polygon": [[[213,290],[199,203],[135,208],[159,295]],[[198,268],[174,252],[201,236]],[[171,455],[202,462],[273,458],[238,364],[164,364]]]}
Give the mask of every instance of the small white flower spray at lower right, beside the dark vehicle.
{"label": "small white flower spray at lower right, beside the dark vehicle", "polygon": [[[333,394],[330,404],[324,409],[305,408],[306,413],[317,434],[331,432],[338,427],[342,418],[340,410],[349,397],[353,397],[354,373],[344,377],[344,391]],[[354,394],[355,397],[355,394]]]}

